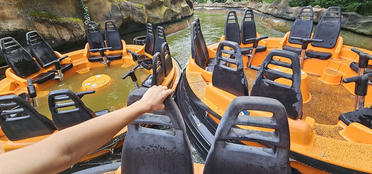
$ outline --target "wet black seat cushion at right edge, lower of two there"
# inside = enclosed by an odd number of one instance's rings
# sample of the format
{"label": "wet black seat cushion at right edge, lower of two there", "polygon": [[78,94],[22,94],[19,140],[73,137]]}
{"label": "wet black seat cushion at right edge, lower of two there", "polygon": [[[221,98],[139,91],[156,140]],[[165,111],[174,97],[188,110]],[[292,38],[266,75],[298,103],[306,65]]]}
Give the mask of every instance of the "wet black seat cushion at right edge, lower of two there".
{"label": "wet black seat cushion at right edge, lower of two there", "polygon": [[352,112],[343,113],[339,116],[339,120],[344,122],[346,125],[356,122],[372,129],[372,109],[364,107]]}

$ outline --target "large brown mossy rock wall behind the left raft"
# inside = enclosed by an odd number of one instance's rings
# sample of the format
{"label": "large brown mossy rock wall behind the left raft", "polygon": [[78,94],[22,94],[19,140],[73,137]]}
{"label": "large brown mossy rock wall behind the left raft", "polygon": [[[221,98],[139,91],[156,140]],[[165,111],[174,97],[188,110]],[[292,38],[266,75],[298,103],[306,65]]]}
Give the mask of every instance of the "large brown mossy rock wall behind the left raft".
{"label": "large brown mossy rock wall behind the left raft", "polygon": [[[105,21],[113,20],[122,35],[144,30],[146,23],[169,23],[193,14],[192,0],[83,1],[102,31]],[[25,49],[26,33],[32,30],[56,51],[86,43],[84,13],[77,0],[2,1],[0,13],[0,38],[13,37]],[[4,65],[0,54],[0,67]]]}

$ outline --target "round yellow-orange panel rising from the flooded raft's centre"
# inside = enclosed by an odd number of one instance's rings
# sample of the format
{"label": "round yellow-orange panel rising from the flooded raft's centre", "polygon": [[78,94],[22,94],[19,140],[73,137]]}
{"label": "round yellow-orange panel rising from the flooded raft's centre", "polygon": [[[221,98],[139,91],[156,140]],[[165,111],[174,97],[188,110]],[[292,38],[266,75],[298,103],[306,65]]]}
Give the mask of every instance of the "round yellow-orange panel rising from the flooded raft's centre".
{"label": "round yellow-orange panel rising from the flooded raft's centre", "polygon": [[110,84],[111,78],[105,74],[93,75],[81,83],[81,88],[84,90],[99,90]]}

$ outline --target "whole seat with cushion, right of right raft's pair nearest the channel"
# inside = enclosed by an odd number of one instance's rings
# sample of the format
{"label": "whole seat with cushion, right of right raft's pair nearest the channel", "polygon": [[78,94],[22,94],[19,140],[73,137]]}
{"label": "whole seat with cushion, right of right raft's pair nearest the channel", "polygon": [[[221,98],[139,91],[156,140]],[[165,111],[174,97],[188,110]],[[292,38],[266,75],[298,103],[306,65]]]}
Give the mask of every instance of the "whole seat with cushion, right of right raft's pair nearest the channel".
{"label": "whole seat with cushion, right of right raft's pair nearest the channel", "polygon": [[[241,42],[246,43],[253,43],[252,41],[246,42],[246,39],[256,38],[256,23],[254,23],[254,14],[253,10],[247,9],[244,11],[243,20],[241,21]],[[242,54],[249,54],[252,51],[253,47],[244,47],[240,48]],[[258,45],[256,48],[256,52],[264,52],[266,51],[266,46]]]}

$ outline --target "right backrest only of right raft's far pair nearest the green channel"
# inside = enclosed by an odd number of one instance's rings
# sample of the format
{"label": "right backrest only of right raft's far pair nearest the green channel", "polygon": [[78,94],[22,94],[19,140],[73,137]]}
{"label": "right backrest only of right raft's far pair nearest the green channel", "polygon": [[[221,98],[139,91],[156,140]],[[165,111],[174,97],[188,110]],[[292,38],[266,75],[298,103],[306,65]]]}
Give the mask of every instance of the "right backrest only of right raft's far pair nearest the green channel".
{"label": "right backrest only of right raft's far pair nearest the green channel", "polygon": [[246,39],[256,38],[256,23],[254,23],[254,14],[252,9],[244,11],[243,20],[241,21],[241,42],[246,42]]}

